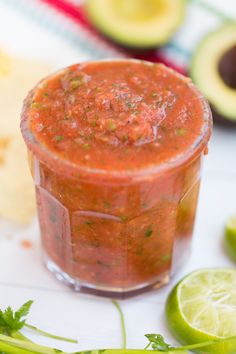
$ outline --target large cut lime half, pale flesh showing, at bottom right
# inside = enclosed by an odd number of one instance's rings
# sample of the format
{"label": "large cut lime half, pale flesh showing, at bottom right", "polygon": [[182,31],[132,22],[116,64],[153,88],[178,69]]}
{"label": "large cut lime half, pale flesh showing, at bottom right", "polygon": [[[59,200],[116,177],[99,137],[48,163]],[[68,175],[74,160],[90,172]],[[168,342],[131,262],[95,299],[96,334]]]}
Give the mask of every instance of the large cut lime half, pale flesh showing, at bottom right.
{"label": "large cut lime half, pale flesh showing, at bottom right", "polygon": [[[236,336],[236,270],[189,274],[170,293],[166,315],[172,333],[185,345]],[[195,351],[235,354],[236,339]]]}

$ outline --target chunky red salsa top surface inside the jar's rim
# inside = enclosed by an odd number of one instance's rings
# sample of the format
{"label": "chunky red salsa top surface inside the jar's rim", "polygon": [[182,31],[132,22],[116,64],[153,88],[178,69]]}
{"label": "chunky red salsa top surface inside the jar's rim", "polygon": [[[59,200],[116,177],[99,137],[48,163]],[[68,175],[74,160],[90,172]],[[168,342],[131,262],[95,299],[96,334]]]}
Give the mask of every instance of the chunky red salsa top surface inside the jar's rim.
{"label": "chunky red salsa top surface inside the jar's rim", "polygon": [[190,87],[162,65],[74,65],[42,81],[30,129],[47,149],[80,166],[156,166],[185,153],[202,133],[202,102]]}

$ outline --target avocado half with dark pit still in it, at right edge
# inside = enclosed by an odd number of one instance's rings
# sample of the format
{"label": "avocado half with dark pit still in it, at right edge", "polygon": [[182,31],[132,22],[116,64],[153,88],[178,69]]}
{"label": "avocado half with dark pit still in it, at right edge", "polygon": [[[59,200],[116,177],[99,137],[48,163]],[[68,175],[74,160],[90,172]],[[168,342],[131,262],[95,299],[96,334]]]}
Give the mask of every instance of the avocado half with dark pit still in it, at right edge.
{"label": "avocado half with dark pit still in it, at right edge", "polygon": [[236,124],[236,22],[205,37],[193,56],[190,76],[208,98],[213,117]]}

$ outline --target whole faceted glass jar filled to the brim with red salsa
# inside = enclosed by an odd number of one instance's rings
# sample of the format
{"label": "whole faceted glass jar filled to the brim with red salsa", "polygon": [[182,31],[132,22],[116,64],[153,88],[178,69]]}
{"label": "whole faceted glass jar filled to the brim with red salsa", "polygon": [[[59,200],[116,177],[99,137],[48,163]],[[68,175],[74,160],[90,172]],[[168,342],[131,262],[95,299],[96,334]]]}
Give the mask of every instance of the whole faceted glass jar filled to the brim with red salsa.
{"label": "whole faceted glass jar filled to the brim with red salsa", "polygon": [[28,95],[47,267],[76,290],[159,287],[189,255],[209,106],[190,79],[137,60],[76,64]]}

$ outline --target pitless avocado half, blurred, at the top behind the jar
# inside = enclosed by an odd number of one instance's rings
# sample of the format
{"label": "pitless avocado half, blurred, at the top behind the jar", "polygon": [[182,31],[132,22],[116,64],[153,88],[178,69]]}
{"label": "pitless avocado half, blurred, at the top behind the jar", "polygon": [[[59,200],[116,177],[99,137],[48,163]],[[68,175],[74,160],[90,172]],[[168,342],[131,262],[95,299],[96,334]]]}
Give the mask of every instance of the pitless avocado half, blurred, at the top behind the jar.
{"label": "pitless avocado half, blurred, at the top behind the jar", "polygon": [[87,0],[91,22],[107,37],[132,48],[168,42],[182,23],[186,0]]}

